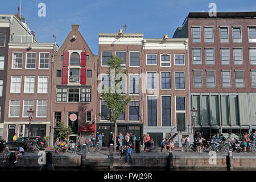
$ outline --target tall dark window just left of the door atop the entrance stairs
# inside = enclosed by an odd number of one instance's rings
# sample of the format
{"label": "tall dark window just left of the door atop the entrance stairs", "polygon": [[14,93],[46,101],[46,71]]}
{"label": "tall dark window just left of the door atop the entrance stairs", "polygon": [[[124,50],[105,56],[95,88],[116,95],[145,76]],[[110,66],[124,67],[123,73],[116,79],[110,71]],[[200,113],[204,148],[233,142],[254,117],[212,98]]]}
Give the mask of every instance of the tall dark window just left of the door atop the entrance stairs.
{"label": "tall dark window just left of the door atop the entrance stairs", "polygon": [[171,126],[171,96],[162,96],[162,126]]}

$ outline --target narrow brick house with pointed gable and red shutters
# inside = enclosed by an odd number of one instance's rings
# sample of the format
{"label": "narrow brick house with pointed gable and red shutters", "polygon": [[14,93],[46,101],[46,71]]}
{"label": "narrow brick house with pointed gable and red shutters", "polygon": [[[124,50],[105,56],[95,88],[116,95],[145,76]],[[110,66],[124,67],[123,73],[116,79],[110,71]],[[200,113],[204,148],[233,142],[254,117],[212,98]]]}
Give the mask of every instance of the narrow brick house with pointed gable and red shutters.
{"label": "narrow brick house with pointed gable and red shutters", "polygon": [[70,139],[75,142],[80,134],[95,134],[97,67],[97,56],[82,37],[79,25],[72,24],[53,57],[51,144],[57,138],[59,121],[71,127]]}

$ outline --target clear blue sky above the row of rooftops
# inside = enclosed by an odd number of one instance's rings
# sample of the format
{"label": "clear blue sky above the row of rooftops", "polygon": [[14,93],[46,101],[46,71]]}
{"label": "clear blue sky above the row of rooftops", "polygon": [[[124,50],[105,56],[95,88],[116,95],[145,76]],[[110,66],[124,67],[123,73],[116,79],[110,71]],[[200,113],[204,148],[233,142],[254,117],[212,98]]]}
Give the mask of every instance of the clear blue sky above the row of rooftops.
{"label": "clear blue sky above the row of rooftops", "polygon": [[[0,14],[14,14],[20,0],[1,0]],[[38,4],[46,4],[46,17],[38,16]],[[145,38],[170,37],[181,26],[189,12],[256,11],[255,0],[22,0],[22,14],[30,22],[40,42],[61,46],[71,30],[80,24],[80,32],[95,55],[98,55],[98,33],[118,32],[127,24],[127,32],[144,33]]]}

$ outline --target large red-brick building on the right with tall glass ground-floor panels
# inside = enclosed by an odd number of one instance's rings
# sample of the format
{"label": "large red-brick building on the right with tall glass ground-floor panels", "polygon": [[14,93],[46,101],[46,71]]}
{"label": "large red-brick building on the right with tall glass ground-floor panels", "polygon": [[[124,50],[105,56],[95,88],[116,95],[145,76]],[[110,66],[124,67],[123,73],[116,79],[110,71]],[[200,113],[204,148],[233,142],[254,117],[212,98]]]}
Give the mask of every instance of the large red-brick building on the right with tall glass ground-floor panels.
{"label": "large red-brick building on the right with tall glass ground-floor panels", "polygon": [[189,39],[196,131],[241,137],[256,129],[256,12],[189,13],[174,38]]}

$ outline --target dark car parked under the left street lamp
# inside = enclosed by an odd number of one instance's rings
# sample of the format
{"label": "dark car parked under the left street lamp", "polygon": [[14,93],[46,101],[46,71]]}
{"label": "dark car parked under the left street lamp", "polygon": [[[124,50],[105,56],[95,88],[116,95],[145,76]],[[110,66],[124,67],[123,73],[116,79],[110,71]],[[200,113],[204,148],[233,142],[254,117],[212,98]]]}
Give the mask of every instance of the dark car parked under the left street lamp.
{"label": "dark car parked under the left street lamp", "polygon": [[[30,140],[34,141],[36,140],[36,138],[37,138],[36,144],[38,144],[38,148],[40,150],[43,150],[44,148],[47,147],[46,140],[44,140],[43,137],[30,137]],[[27,140],[28,140],[28,137],[22,137],[22,138],[16,139],[15,142],[7,142],[6,145],[9,147],[9,150],[16,150],[17,147],[26,148]]]}

